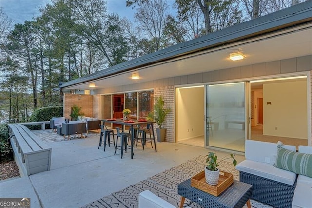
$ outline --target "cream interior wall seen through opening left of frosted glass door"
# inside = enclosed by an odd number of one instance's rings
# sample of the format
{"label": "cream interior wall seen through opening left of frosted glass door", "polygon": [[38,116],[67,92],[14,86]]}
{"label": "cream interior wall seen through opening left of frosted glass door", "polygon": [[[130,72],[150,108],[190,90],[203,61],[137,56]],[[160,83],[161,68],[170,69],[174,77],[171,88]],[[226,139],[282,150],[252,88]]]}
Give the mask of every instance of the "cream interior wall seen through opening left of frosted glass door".
{"label": "cream interior wall seen through opening left of frosted glass door", "polygon": [[204,134],[204,87],[177,89],[177,140]]}

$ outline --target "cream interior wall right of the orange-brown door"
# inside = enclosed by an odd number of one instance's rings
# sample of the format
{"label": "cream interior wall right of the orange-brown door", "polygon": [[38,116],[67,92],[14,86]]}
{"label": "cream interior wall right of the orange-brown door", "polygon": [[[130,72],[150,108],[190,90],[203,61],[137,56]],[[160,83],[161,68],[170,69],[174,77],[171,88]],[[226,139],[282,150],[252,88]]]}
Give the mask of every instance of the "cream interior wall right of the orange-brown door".
{"label": "cream interior wall right of the orange-brown door", "polygon": [[264,135],[307,139],[307,114],[307,81],[263,84]]}

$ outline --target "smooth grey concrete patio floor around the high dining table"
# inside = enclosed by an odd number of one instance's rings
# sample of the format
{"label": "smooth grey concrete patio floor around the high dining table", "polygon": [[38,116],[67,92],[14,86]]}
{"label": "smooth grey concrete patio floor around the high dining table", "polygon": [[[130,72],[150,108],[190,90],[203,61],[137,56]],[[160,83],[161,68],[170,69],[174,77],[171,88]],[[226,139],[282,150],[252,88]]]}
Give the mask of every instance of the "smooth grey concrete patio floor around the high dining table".
{"label": "smooth grey concrete patio floor around the high dining table", "polygon": [[[30,197],[32,208],[77,208],[209,151],[168,142],[156,143],[157,152],[148,143],[143,151],[138,144],[131,160],[130,149],[121,159],[113,144],[104,152],[98,142],[99,136],[48,143],[51,170],[1,181],[0,197]],[[228,154],[216,152],[219,158]]]}

